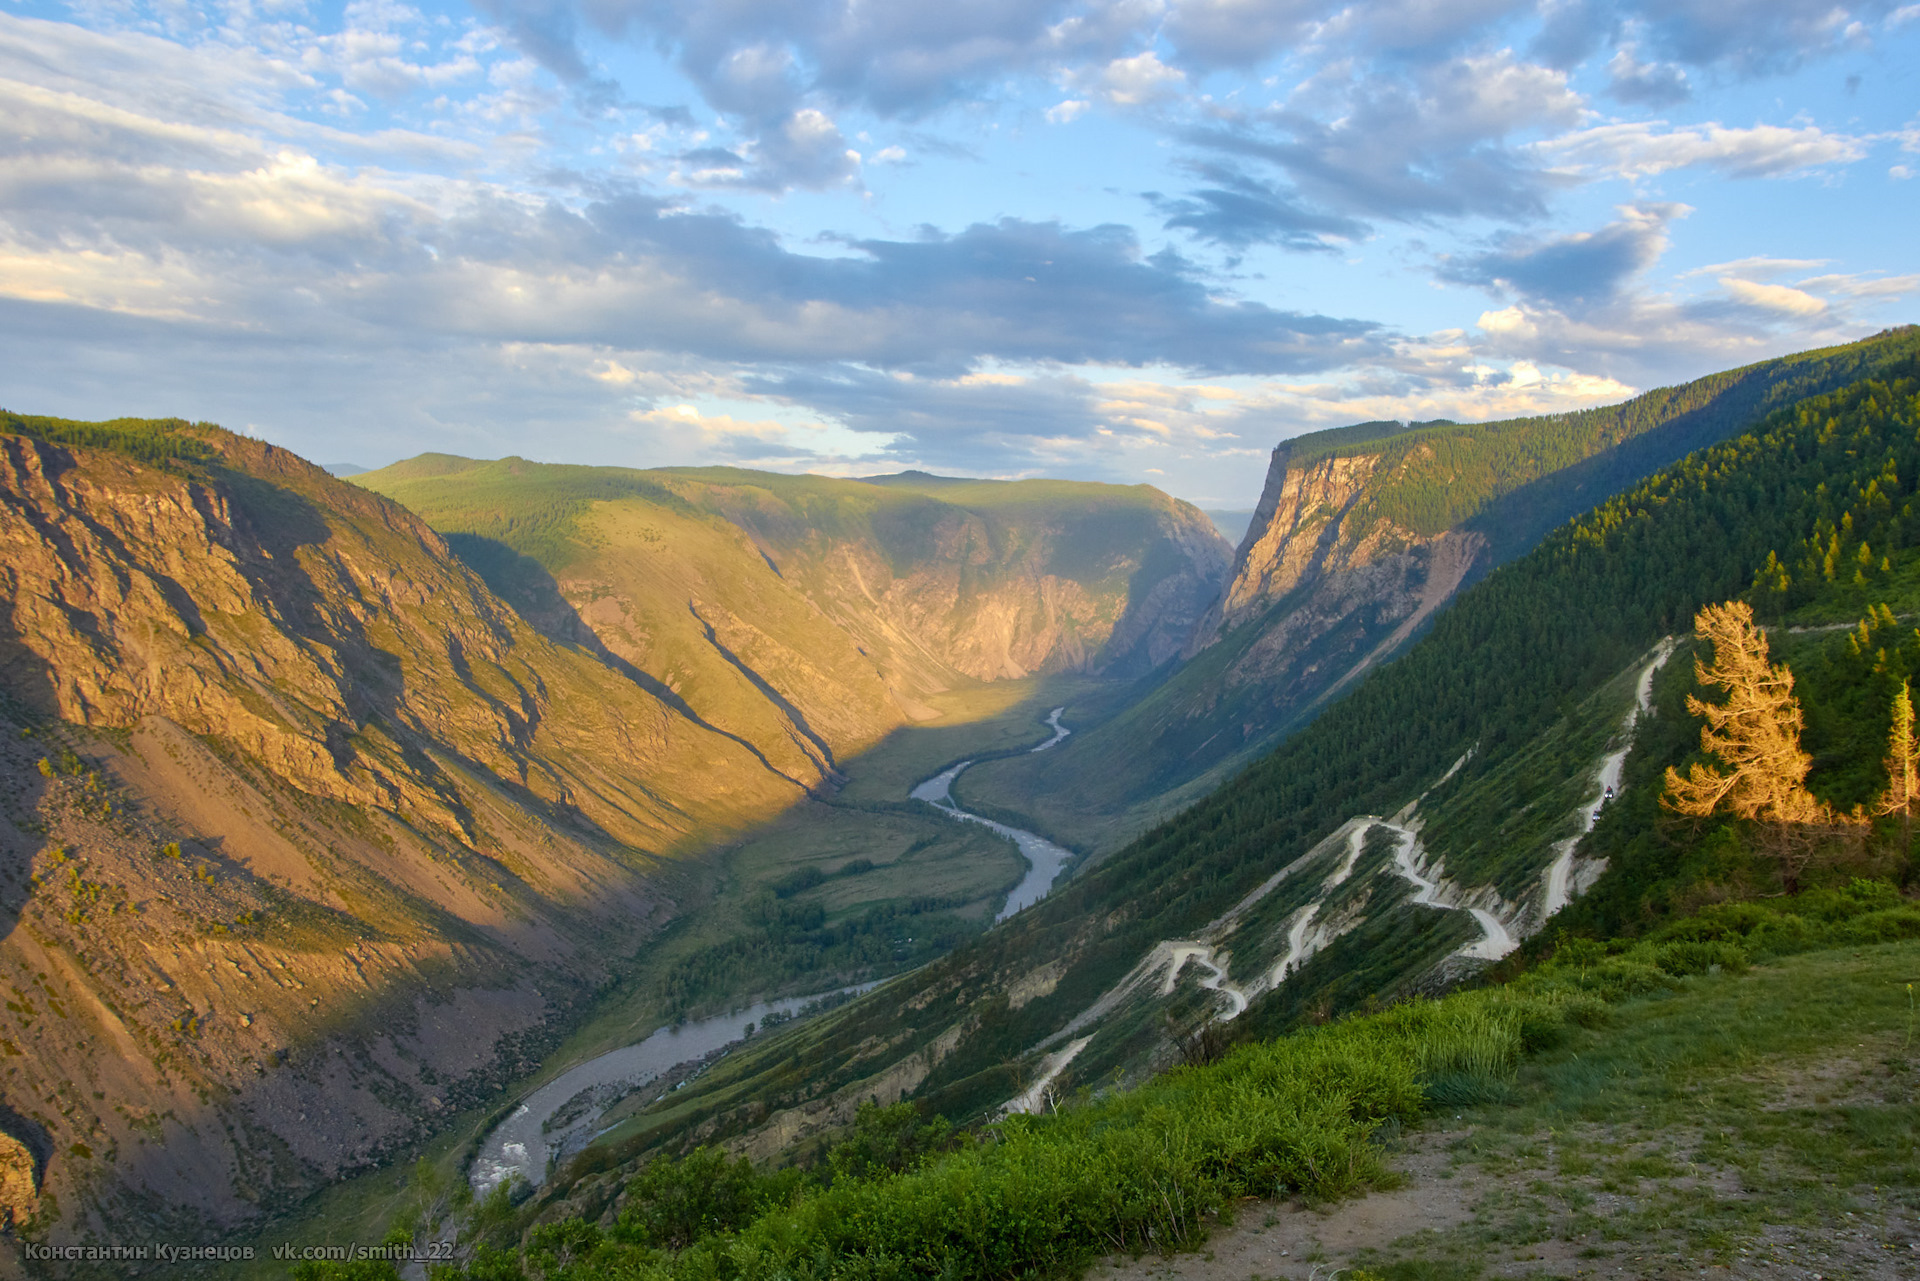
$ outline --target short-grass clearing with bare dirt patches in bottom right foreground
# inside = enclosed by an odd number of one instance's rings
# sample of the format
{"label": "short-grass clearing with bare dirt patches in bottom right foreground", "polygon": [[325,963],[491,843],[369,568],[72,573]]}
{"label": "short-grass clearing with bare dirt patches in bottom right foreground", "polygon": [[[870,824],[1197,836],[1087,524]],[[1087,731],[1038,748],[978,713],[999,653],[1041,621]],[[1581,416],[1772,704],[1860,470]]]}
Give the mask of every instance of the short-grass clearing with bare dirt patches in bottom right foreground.
{"label": "short-grass clearing with bare dirt patches in bottom right foreground", "polygon": [[1916,989],[1920,943],[1684,979],[1402,1135],[1398,1189],[1242,1202],[1200,1252],[1089,1277],[1920,1275]]}

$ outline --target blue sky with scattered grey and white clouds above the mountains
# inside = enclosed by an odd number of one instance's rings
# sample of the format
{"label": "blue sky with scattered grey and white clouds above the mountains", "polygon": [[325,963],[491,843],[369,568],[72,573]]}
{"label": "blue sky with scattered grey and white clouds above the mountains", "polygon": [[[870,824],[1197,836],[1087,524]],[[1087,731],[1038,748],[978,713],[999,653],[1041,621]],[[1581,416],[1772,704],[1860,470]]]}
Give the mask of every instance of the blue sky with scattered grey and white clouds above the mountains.
{"label": "blue sky with scattered grey and white clouds above the mountains", "polygon": [[0,0],[0,405],[1156,484],[1920,321],[1920,4]]}

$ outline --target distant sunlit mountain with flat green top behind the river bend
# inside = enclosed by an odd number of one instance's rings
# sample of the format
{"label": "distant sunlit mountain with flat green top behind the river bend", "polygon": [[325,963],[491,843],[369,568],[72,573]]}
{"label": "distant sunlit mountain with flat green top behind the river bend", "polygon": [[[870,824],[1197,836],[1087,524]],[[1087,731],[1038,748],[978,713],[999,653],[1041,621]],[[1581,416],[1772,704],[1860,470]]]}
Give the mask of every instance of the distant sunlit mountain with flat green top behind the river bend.
{"label": "distant sunlit mountain with flat green top behind the river bend", "polygon": [[1146,486],[445,455],[355,482],[549,632],[597,638],[814,778],[956,682],[1171,657],[1227,567],[1206,517]]}

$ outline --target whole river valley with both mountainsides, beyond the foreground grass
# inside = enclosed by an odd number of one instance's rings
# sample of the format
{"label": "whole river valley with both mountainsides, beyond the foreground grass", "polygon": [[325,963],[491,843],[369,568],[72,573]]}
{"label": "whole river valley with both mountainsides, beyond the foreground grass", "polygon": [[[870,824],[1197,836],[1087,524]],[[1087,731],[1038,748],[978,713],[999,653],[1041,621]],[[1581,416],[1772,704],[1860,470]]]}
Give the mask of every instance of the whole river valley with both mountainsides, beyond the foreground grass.
{"label": "whole river valley with both mountainsides, beyond the foreground grass", "polygon": [[804,1206],[883,1116],[985,1152],[1235,1047],[1498,1014],[1557,951],[1801,876],[1663,818],[1722,599],[1857,814],[1801,841],[1832,845],[1805,889],[1897,897],[1864,807],[1920,613],[1916,351],[1286,442],[1236,553],[1144,486],[348,484],[209,424],[15,415],[13,1221],[520,1250],[682,1160]]}

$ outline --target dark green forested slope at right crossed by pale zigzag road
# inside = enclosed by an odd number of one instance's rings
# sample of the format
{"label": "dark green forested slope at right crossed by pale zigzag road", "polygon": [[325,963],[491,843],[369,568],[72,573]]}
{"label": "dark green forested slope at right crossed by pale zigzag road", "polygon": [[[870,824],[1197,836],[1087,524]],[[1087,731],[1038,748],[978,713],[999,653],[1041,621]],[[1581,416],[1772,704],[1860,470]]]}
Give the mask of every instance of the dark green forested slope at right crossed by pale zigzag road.
{"label": "dark green forested slope at right crossed by pale zigzag road", "polygon": [[[1659,774],[1688,759],[1697,724],[1684,713],[1686,649],[1659,659],[1699,605],[1741,593],[1795,622],[1887,605],[1857,636],[1782,641],[1807,670],[1816,787],[1847,807],[1885,786],[1887,682],[1920,668],[1910,622],[1889,622],[1920,609],[1920,361],[1885,373],[1782,409],[1563,526],[1215,795],[977,943],[793,1041],[735,1054],[672,1100],[657,1135],[747,1131],[770,1108],[758,1150],[839,1124],[870,1095],[977,1114],[1079,1037],[1091,1039],[1062,1093],[1171,1062],[1173,1037],[1231,1014],[1227,983],[1254,989],[1313,905],[1319,949],[1256,991],[1231,1031],[1486,964],[1473,949],[1490,928],[1463,908],[1515,937],[1540,928],[1563,851],[1584,864],[1574,889],[1592,882],[1567,920],[1605,931],[1711,895],[1715,878],[1764,876],[1711,830],[1661,822]],[[1640,691],[1647,711],[1626,722]],[[1582,837],[1620,749],[1620,799]],[[1417,878],[1440,887],[1427,903],[1394,866],[1409,839]],[[793,1062],[808,1064],[804,1079]]]}

